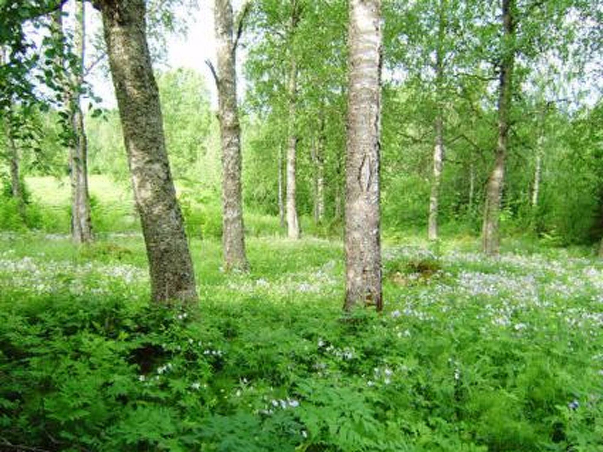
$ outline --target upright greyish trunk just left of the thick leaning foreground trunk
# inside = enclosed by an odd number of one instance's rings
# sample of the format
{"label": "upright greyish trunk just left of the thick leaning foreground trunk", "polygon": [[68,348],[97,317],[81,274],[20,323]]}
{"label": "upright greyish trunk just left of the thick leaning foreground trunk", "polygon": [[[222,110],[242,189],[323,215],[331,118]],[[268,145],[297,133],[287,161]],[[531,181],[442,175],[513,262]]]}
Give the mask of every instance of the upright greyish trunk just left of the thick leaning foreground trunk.
{"label": "upright greyish trunk just left of the thick leaning foreground trunk", "polygon": [[84,58],[86,56],[86,7],[83,0],[78,5],[78,27],[75,32],[75,48],[80,53],[78,74],[74,74],[69,86],[69,110],[73,132],[69,149],[71,169],[71,235],[75,243],[92,241],[90,221],[90,196],[88,192],[88,143],[84,128],[84,114],[81,111],[80,89],[83,84]]}

